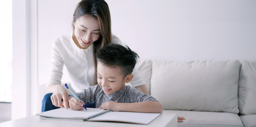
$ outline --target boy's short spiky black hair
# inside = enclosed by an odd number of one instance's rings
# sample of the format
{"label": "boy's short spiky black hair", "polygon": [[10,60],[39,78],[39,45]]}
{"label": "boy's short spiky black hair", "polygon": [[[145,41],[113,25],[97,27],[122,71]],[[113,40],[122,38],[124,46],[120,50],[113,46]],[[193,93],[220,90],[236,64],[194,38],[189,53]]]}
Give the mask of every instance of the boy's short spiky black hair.
{"label": "boy's short spiky black hair", "polygon": [[140,58],[128,46],[110,43],[102,47],[95,55],[97,61],[109,67],[120,67],[124,77],[131,74],[137,59]]}

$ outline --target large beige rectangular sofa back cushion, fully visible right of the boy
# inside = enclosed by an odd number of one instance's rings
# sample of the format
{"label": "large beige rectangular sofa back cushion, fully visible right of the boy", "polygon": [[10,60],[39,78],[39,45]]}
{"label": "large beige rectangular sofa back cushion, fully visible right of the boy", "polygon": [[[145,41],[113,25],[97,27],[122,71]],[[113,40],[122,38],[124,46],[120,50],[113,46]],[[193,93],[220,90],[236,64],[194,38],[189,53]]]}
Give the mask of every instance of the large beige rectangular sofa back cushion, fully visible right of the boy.
{"label": "large beige rectangular sofa back cushion, fully visible right of the boy", "polygon": [[238,113],[240,62],[152,62],[151,95],[164,109]]}

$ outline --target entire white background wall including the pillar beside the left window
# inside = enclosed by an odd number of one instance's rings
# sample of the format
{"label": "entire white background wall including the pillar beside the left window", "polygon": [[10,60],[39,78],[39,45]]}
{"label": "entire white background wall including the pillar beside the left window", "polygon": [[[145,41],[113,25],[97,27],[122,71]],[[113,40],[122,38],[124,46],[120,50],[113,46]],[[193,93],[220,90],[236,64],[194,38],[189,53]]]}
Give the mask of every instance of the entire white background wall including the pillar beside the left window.
{"label": "entire white background wall including the pillar beside the left window", "polygon": [[[13,1],[12,119],[34,115],[52,42],[80,0]],[[106,0],[112,33],[141,59],[256,61],[256,0]],[[68,82],[66,69],[62,82]],[[23,109],[23,110],[20,110]]]}

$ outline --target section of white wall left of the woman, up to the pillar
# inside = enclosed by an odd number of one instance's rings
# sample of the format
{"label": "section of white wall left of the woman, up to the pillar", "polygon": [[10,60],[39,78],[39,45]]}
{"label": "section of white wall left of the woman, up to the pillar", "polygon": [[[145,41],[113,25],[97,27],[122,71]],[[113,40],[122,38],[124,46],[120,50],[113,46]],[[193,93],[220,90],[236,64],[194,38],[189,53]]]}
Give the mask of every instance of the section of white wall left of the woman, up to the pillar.
{"label": "section of white wall left of the woman, up to the pillar", "polygon": [[[72,31],[72,16],[80,0],[38,0],[38,81],[48,81],[52,43]],[[62,82],[69,81],[64,68]]]}

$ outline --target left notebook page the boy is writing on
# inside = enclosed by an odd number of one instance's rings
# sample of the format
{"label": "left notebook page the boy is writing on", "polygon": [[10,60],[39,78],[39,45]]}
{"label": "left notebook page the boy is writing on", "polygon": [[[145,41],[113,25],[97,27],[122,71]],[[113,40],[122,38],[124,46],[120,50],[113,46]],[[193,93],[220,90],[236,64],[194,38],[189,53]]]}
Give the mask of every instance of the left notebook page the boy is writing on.
{"label": "left notebook page the boy is writing on", "polygon": [[38,113],[36,115],[52,117],[52,118],[62,118],[62,119],[87,119],[92,115],[102,113],[106,110],[98,108],[87,108],[87,110],[71,110],[70,108],[58,108],[50,111],[45,111]]}

